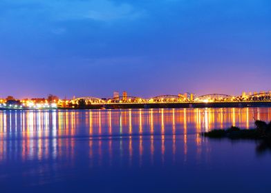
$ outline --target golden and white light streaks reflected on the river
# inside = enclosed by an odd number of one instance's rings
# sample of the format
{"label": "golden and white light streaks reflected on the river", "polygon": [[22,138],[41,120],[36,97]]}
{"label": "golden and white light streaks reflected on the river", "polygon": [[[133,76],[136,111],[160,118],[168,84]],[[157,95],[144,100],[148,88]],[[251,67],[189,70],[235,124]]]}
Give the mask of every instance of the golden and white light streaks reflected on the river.
{"label": "golden and white light streaks reflected on the river", "polygon": [[[127,157],[129,165],[136,159],[141,165],[148,155],[154,164],[159,154],[162,163],[169,154],[175,162],[180,152],[187,160],[189,143],[196,154],[203,154],[197,133],[230,125],[252,128],[255,118],[269,121],[270,108],[2,111],[0,162],[15,157],[73,161],[81,145],[88,148],[91,162],[100,165],[105,154],[111,165],[116,154]],[[194,134],[193,141],[189,134]]]}

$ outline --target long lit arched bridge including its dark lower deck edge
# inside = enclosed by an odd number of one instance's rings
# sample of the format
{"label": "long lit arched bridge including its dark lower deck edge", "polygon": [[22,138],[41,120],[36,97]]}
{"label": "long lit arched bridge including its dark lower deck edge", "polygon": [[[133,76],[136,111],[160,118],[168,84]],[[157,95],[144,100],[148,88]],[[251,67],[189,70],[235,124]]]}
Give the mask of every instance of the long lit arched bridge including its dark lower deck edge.
{"label": "long lit arched bridge including its dark lower deck edge", "polygon": [[73,105],[90,105],[93,108],[203,108],[203,107],[247,107],[271,106],[271,92],[245,96],[228,94],[205,94],[194,99],[180,95],[161,95],[151,99],[138,96],[120,96],[113,99],[82,97],[73,99]]}

